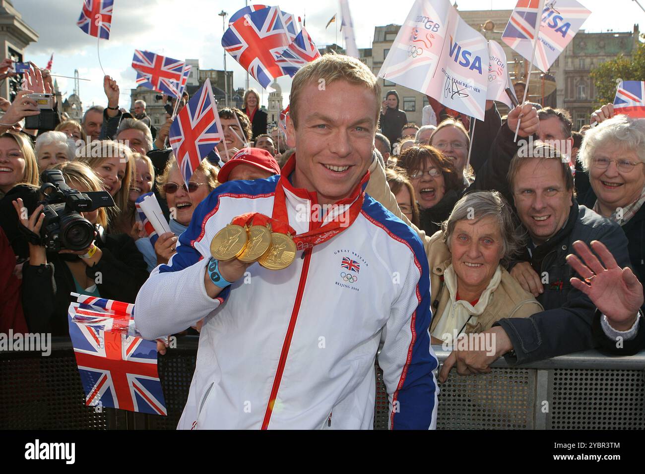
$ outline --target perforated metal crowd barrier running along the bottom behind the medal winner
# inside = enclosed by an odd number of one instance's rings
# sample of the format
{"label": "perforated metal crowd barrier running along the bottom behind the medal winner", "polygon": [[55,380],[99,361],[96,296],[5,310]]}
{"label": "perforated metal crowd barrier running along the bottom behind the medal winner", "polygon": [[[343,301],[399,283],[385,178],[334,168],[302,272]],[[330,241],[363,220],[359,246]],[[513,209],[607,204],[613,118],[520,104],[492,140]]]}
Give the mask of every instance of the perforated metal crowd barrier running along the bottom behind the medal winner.
{"label": "perforated metal crowd barrier running along the bottom behind the medal winner", "polygon": [[[441,363],[449,352],[433,346]],[[0,351],[0,429],[173,430],[195,370],[197,337],[177,339],[159,357],[167,417],[85,406],[70,341],[54,338],[52,354]],[[613,430],[645,428],[645,351],[606,357],[586,351],[486,375],[457,375],[440,384],[437,429]],[[386,429],[388,397],[377,368],[374,428]]]}

